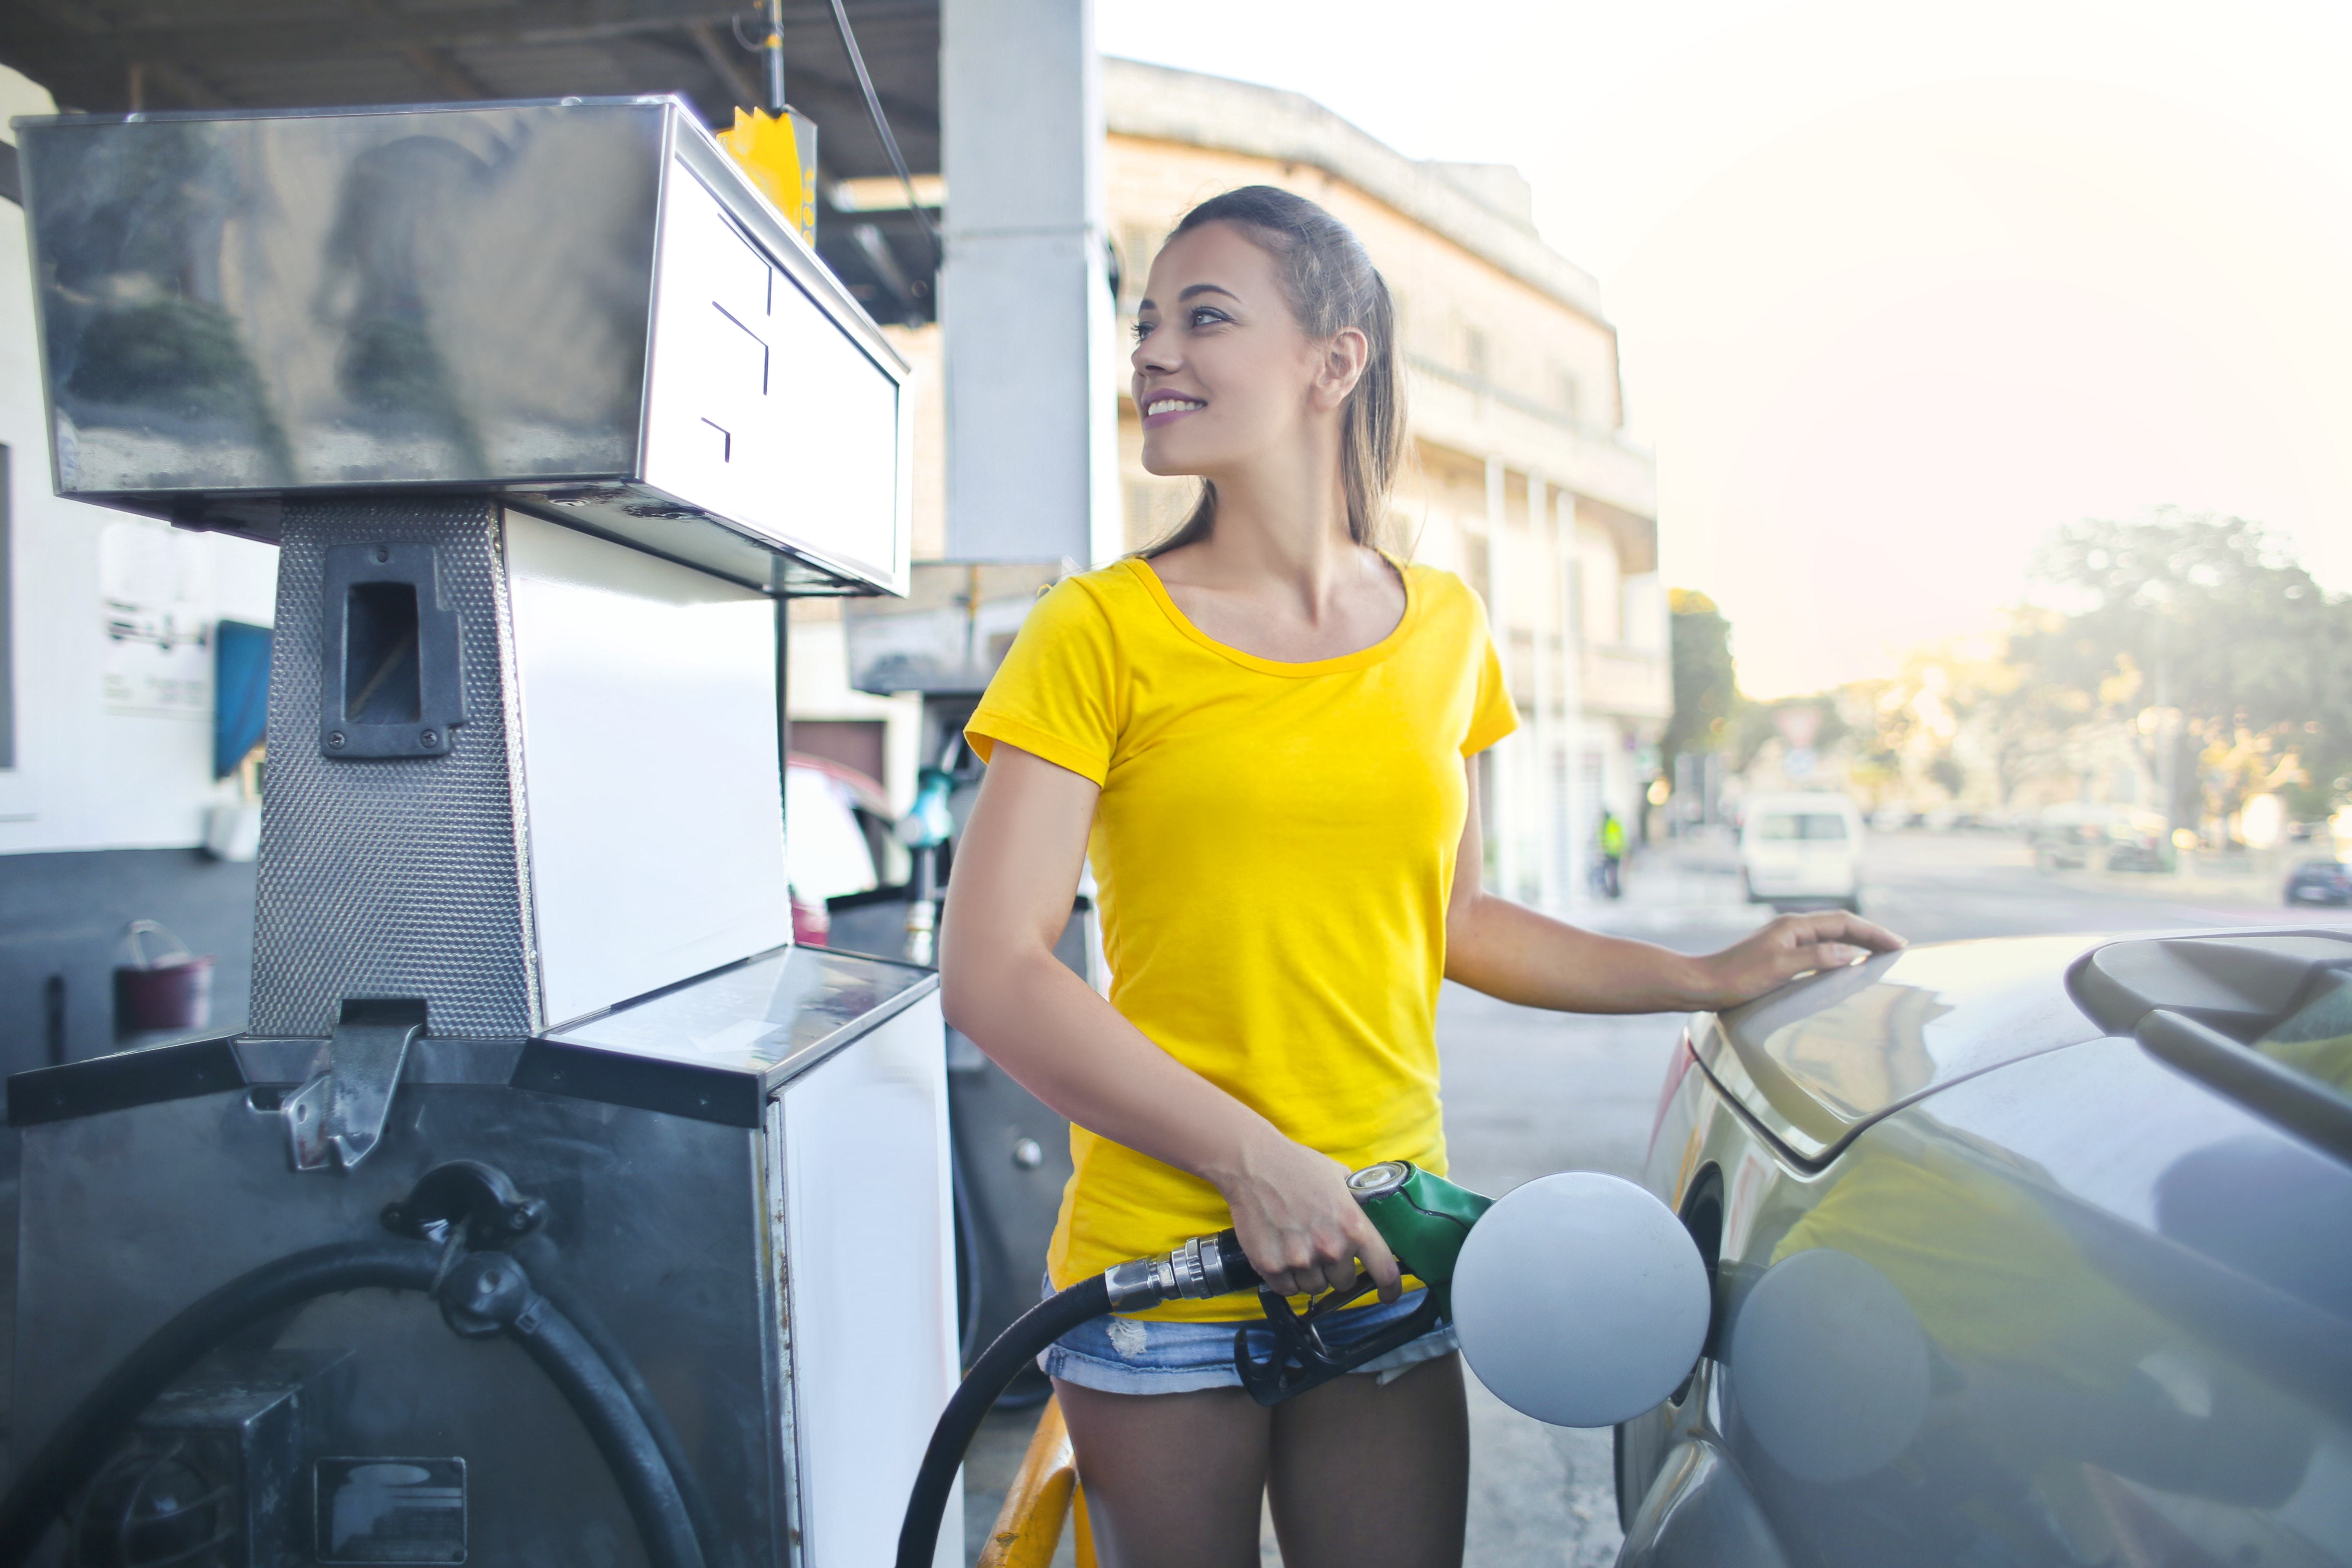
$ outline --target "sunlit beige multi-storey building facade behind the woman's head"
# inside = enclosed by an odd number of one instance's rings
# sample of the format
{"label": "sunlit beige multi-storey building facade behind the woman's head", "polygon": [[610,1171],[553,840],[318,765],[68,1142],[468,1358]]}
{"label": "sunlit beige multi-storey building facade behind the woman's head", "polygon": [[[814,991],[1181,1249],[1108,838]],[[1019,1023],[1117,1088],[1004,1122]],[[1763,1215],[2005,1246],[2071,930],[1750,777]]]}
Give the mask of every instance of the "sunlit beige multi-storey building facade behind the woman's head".
{"label": "sunlit beige multi-storey building facade behind the woman's head", "polygon": [[[1298,94],[1103,61],[1103,118],[1122,327],[1167,233],[1218,190],[1296,190],[1371,249],[1397,299],[1414,433],[1390,538],[1486,597],[1519,705],[1519,733],[1484,762],[1489,875],[1529,903],[1571,903],[1599,811],[1639,820],[1670,710],[1656,470],[1623,437],[1599,289],[1536,235],[1515,169],[1414,162]],[[938,329],[896,341],[917,364],[922,559],[946,538]],[[1120,404],[1122,538],[1136,550],[1185,515],[1195,482],[1143,473],[1124,353],[1103,364],[1103,397]],[[795,724],[889,736],[863,750],[887,752],[903,799],[913,708],[847,689],[833,607],[795,614]]]}

